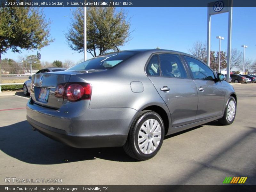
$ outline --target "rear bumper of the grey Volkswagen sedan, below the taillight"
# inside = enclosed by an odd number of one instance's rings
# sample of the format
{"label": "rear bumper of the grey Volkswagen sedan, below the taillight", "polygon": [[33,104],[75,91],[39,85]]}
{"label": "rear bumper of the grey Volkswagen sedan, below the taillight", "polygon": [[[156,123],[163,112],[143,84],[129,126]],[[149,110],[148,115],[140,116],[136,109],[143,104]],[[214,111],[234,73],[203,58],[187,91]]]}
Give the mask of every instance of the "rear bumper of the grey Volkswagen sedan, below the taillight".
{"label": "rear bumper of the grey Volkswagen sedan, below the taillight", "polygon": [[[28,101],[28,123],[45,136],[76,148],[120,147],[125,144],[138,111],[132,108],[90,109],[88,100],[81,100],[80,108],[72,111],[70,107],[76,105],[74,103],[63,104],[56,110]],[[66,113],[68,108],[70,110]]]}

